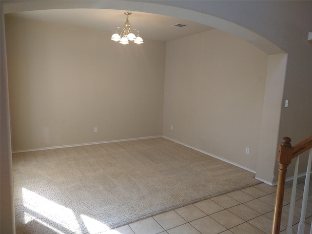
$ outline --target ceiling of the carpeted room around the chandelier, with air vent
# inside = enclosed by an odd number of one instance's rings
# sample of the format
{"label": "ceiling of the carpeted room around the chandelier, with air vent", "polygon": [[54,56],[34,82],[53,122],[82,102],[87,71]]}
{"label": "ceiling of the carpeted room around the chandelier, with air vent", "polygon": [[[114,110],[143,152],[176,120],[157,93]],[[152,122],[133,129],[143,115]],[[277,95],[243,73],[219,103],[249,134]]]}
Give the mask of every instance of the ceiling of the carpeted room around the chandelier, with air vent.
{"label": "ceiling of the carpeted room around the chandelier, with air vent", "polygon": [[[57,9],[25,11],[10,13],[12,16],[25,19],[69,25],[113,34],[117,26],[123,26],[127,10],[111,9]],[[144,12],[134,12],[129,16],[134,29],[140,32],[143,39],[169,41],[214,29],[204,24],[175,17],[156,15]],[[185,24],[185,27],[172,27],[175,24]]]}

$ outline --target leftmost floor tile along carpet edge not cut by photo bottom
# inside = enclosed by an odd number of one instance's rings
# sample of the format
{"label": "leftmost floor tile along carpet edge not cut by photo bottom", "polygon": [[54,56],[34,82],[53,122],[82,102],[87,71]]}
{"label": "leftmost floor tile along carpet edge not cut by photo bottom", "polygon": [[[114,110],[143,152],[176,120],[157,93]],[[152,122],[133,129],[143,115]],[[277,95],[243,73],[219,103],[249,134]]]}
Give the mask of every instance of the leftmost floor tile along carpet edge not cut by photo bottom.
{"label": "leftmost floor tile along carpet edge not cut by photo bottom", "polygon": [[176,214],[175,211],[165,212],[153,217],[165,230],[187,223],[185,219]]}

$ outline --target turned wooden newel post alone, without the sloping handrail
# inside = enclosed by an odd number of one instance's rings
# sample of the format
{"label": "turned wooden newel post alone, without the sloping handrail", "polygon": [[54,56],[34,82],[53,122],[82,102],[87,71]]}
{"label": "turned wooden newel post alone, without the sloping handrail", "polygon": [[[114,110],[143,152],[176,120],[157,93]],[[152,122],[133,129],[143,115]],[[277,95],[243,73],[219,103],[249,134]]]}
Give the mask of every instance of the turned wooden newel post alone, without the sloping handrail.
{"label": "turned wooden newel post alone, without the sloping handrail", "polygon": [[272,224],[272,234],[279,234],[281,226],[286,172],[288,165],[292,162],[293,148],[291,141],[292,141],[291,138],[283,137],[282,143],[278,147],[277,161],[279,164],[279,168],[278,168],[278,181],[276,188],[275,208]]}

